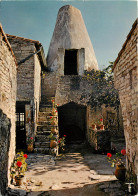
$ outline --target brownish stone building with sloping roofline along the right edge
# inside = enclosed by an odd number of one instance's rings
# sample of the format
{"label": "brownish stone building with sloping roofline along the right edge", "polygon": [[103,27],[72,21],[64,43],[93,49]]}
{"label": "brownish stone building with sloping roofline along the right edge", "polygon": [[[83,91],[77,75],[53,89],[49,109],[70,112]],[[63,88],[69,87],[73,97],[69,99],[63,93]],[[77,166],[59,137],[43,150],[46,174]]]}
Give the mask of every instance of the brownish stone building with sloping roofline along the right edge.
{"label": "brownish stone building with sloping roofline along the right edge", "polygon": [[129,32],[114,63],[115,87],[119,90],[127,150],[128,177],[135,181],[138,175],[138,20]]}

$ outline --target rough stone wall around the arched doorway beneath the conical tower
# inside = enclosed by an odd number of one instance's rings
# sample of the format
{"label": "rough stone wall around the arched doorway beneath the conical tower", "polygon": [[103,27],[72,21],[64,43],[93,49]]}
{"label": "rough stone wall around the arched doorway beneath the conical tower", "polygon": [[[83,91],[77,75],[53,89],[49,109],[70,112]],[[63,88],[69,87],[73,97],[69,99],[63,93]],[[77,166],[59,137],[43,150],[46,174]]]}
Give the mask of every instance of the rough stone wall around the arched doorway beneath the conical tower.
{"label": "rough stone wall around the arched doorway beneath the conical tower", "polygon": [[[107,127],[111,131],[113,137],[124,137],[122,116],[119,111],[119,127],[117,122],[117,112],[114,108],[105,107],[104,105],[100,108],[91,108],[89,100],[91,93],[96,93],[96,86],[91,80],[88,80],[84,76],[57,76],[54,72],[49,72],[42,78],[42,97],[43,102],[50,97],[55,96],[56,104],[63,106],[67,103],[74,102],[79,105],[87,106],[87,127],[93,124],[93,121],[97,121],[103,116],[104,125],[109,124],[107,119],[107,113],[113,114],[114,124],[112,127]],[[106,89],[106,88],[105,88]],[[119,131],[118,131],[119,130]]]}

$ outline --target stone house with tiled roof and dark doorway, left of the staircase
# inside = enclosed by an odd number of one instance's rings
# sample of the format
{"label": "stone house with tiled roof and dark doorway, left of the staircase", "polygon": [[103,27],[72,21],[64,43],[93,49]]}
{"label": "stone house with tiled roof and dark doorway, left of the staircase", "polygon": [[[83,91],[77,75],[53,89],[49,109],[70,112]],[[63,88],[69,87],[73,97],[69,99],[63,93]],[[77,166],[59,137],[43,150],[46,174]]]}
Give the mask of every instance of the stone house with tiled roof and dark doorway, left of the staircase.
{"label": "stone house with tiled roof and dark doorway, left of the staircase", "polygon": [[41,101],[41,75],[46,59],[39,41],[8,35],[18,62],[16,97],[16,148],[26,149],[34,138]]}

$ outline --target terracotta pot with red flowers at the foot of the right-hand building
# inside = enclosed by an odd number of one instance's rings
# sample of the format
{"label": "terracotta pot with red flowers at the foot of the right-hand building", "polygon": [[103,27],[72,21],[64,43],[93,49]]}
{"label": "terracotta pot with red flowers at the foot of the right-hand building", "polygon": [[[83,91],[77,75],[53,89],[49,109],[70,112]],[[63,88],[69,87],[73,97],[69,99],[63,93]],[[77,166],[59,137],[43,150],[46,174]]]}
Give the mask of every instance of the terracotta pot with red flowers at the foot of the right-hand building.
{"label": "terracotta pot with red flowers at the foot of the right-hand building", "polygon": [[115,156],[113,156],[111,153],[107,153],[108,162],[111,163],[111,167],[116,166],[116,170],[114,174],[116,178],[121,181],[125,180],[125,173],[126,173],[125,164],[122,160],[124,155],[126,155],[125,149],[122,149],[121,152],[116,153]]}

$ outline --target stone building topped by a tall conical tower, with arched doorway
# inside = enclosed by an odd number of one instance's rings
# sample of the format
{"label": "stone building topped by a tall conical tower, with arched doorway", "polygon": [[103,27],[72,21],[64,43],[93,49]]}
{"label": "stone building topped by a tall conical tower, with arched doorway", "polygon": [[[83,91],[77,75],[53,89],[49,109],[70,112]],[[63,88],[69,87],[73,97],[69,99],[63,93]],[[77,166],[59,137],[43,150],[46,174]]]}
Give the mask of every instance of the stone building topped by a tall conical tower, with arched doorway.
{"label": "stone building topped by a tall conical tower, with arched doorway", "polygon": [[[93,121],[107,116],[116,123],[113,108],[93,109],[89,104],[95,86],[84,77],[85,71],[99,70],[94,49],[80,10],[71,5],[60,8],[47,55],[48,72],[42,78],[41,112],[47,111],[49,100],[58,104],[59,135],[67,135],[67,142],[90,141]],[[107,114],[108,113],[108,114]],[[40,113],[44,119],[46,113]],[[46,120],[46,119],[45,119]],[[42,125],[42,122],[40,122]],[[115,125],[114,125],[115,127]],[[39,128],[39,136],[44,131]],[[46,127],[45,127],[46,129]]]}

